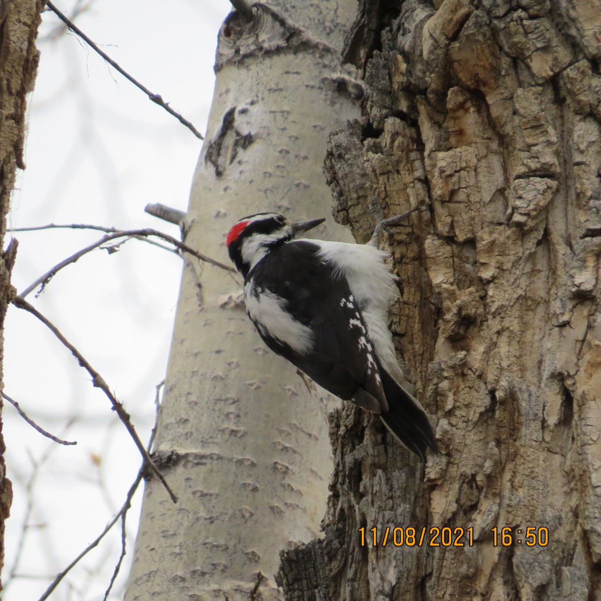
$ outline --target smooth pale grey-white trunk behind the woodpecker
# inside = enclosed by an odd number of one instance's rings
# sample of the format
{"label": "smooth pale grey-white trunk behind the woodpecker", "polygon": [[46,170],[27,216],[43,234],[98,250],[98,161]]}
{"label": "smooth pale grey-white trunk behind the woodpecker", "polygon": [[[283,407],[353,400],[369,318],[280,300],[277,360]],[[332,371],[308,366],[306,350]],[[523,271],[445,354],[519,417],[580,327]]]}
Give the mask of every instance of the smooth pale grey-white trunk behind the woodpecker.
{"label": "smooth pale grey-white trunk behind the woodpecker", "polygon": [[[359,116],[341,67],[353,0],[255,5],[219,32],[216,88],[192,186],[186,243],[229,264],[241,217],[328,216],[329,132]],[[242,280],[183,273],[154,457],[179,501],[145,489],[126,599],[280,599],[280,549],[319,534],[332,471],[327,411],[246,317]],[[197,279],[198,278],[198,279]]]}

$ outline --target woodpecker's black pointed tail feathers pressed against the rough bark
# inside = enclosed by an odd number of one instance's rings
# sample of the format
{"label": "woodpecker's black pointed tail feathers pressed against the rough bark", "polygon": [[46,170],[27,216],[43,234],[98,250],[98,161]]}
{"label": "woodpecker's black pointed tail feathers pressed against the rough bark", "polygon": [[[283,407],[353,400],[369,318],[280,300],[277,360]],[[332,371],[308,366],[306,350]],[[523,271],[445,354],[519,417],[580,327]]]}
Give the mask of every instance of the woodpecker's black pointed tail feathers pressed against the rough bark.
{"label": "woodpecker's black pointed tail feathers pressed against the rough bark", "polygon": [[426,412],[419,401],[381,367],[380,376],[388,401],[388,411],[380,413],[380,418],[398,441],[426,463],[427,447],[438,453],[436,438]]}

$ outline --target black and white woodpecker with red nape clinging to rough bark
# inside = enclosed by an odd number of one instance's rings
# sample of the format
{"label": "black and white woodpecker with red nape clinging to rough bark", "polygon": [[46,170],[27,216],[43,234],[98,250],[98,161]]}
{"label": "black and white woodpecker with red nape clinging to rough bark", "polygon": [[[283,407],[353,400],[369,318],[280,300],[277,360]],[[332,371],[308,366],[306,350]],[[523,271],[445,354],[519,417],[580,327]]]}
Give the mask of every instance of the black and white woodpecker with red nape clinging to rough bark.
{"label": "black and white woodpecker with red nape clinging to rough bark", "polygon": [[323,221],[291,223],[258,213],[231,228],[226,243],[244,276],[246,313],[273,352],[337,397],[379,415],[425,461],[427,447],[437,451],[436,439],[388,330],[397,288],[386,254],[376,233],[364,245],[294,239]]}

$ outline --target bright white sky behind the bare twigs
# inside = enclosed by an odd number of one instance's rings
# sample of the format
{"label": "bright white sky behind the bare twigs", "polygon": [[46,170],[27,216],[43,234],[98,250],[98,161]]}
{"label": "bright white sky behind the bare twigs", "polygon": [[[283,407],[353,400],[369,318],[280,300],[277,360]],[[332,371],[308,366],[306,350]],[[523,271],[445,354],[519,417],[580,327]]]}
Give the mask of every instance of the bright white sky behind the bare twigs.
{"label": "bright white sky behind the bare twigs", "polygon": [[[69,14],[74,0],[59,1]],[[76,19],[105,52],[204,132],[213,93],[216,36],[227,0],[96,0]],[[40,69],[29,99],[27,169],[8,227],[87,223],[178,228],[144,213],[147,203],[185,210],[201,141],[72,34],[43,39],[58,19],[44,13]],[[22,290],[58,261],[102,237],[76,230],[13,234],[19,239],[13,285]],[[8,241],[8,237],[7,237]],[[155,386],[163,379],[181,261],[132,240],[109,255],[94,251],[59,272],[37,299],[44,313],[102,374],[147,441]],[[5,403],[4,436],[14,500],[7,522],[4,601],[38,599],[123,504],[141,458],[108,399],[34,317],[14,307],[5,322],[5,392],[57,436],[31,429]],[[26,487],[37,470],[25,538]],[[97,465],[95,457],[101,457]],[[111,594],[123,597],[141,489],[127,516],[126,562]],[[7,583],[19,541],[17,573]],[[120,554],[118,525],[50,599],[102,599]]]}

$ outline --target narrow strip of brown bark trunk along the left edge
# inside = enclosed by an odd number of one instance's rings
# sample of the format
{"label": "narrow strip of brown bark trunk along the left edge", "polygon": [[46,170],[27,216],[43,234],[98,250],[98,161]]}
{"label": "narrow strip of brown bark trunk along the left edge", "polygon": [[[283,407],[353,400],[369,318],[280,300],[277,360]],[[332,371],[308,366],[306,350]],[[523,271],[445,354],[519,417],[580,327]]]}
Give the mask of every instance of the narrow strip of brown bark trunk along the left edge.
{"label": "narrow strip of brown bark trunk along the left edge", "polygon": [[[34,87],[39,58],[35,38],[42,8],[43,2],[40,0],[0,0],[0,378],[4,317],[13,294],[10,272],[16,257],[16,243],[13,242],[5,252],[2,249],[17,168],[25,169],[26,96]],[[3,387],[0,381],[0,388]],[[6,477],[4,451],[0,413],[0,571],[4,565],[4,522],[13,501],[13,487]]]}

